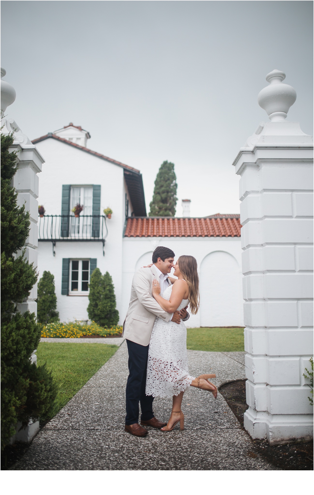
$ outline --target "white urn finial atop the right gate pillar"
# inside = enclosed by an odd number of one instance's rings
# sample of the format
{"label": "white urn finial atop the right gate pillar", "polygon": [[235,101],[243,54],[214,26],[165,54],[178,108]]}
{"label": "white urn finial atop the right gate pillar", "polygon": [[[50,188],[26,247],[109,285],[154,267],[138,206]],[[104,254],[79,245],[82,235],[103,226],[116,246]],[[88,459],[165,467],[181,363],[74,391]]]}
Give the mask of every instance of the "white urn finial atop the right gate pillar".
{"label": "white urn finial atop the right gate pillar", "polygon": [[292,86],[284,84],[286,74],[274,69],[266,76],[269,86],[262,89],[258,96],[259,105],[267,112],[271,122],[284,121],[290,106],[297,99],[297,93]]}

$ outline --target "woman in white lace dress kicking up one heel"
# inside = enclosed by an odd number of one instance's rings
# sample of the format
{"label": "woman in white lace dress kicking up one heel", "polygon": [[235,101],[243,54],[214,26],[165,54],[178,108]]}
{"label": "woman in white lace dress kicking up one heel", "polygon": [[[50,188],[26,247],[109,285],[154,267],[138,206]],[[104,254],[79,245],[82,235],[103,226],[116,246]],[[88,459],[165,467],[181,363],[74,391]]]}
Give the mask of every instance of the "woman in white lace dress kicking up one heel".
{"label": "woman in white lace dress kicking up one heel", "polygon": [[[193,256],[180,256],[174,265],[174,275],[178,279],[169,279],[171,284],[160,296],[157,279],[153,281],[152,294],[158,304],[173,313],[190,303],[192,314],[199,308],[199,276],[197,262]],[[172,397],[172,411],[167,426],[161,431],[171,431],[180,421],[180,429],[184,428],[184,414],[181,403],[184,391],[189,387],[212,392],[216,398],[217,389],[209,382],[214,374],[200,375],[197,378],[189,375],[186,350],[186,327],[184,322],[165,322],[156,318],[151,336],[148,354],[146,395],[154,397]]]}

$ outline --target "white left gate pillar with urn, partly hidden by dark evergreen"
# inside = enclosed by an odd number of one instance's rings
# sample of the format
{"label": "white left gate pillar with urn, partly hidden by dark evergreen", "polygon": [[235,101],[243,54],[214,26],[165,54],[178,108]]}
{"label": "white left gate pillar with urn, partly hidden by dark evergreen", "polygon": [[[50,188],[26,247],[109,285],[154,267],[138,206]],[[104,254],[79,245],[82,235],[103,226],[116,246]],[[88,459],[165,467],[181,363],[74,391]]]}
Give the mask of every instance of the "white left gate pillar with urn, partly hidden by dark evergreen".
{"label": "white left gate pillar with urn, partly hidden by dark evergreen", "polygon": [[[28,137],[23,134],[13,119],[6,117],[6,107],[15,100],[15,91],[10,84],[2,80],[5,76],[5,70],[1,68],[1,127],[2,133],[9,134],[13,132],[14,142],[9,148],[10,151],[17,151],[18,169],[13,177],[12,186],[14,186],[17,196],[18,206],[25,204],[25,209],[30,212],[30,231],[25,242],[25,258],[29,263],[34,263],[37,267],[37,247],[38,247],[38,172],[42,171],[42,164],[45,162],[42,155],[36,149]],[[22,250],[17,252],[19,256]],[[17,309],[21,313],[29,310],[37,314],[37,283],[32,288],[30,295],[20,304]],[[31,360],[36,363],[36,349],[34,350]],[[20,424],[17,425],[17,431]],[[13,440],[19,442],[29,442],[39,431],[39,422],[30,422],[27,428],[16,433]],[[13,441],[12,440],[12,441]]]}

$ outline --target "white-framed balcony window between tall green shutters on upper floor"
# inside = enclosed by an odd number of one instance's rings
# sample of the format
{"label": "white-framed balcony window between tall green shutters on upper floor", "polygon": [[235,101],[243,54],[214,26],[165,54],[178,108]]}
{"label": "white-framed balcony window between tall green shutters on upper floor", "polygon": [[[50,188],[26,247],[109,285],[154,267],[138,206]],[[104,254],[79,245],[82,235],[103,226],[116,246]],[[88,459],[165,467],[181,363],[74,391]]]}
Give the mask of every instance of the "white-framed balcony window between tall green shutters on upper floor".
{"label": "white-framed balcony window between tall green shutters on upper floor", "polygon": [[[75,217],[72,208],[77,204],[84,206],[82,216]],[[70,194],[71,235],[91,235],[93,215],[93,186],[71,186]]]}

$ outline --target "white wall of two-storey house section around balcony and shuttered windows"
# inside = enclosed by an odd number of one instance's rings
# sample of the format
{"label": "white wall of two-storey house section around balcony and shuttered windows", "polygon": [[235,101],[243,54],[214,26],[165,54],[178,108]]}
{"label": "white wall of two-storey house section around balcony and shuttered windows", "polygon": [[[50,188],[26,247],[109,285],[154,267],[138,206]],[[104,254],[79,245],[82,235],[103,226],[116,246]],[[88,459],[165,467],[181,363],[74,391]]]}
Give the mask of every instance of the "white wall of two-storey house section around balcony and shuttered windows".
{"label": "white wall of two-storey house section around balcony and shuttered windows", "polygon": [[87,319],[88,305],[85,296],[61,295],[62,258],[97,258],[97,267],[102,273],[108,271],[112,277],[121,323],[122,232],[125,221],[123,168],[54,139],[37,143],[36,147],[47,157],[38,198],[46,214],[61,214],[62,184],[101,184],[101,214],[107,206],[113,210],[111,219],[106,219],[108,235],[105,257],[101,242],[56,242],[55,257],[52,255],[52,243],[38,243],[38,269],[40,274],[49,270],[54,275],[60,320],[73,320],[74,317]]}

